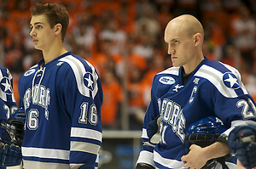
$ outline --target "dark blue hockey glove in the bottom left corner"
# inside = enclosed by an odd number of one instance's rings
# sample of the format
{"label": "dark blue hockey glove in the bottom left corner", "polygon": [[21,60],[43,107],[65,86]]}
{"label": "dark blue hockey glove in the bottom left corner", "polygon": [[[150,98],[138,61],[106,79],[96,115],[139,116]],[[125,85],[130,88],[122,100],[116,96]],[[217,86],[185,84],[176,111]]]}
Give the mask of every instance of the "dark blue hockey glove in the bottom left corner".
{"label": "dark blue hockey glove in the bottom left corner", "polygon": [[4,144],[3,149],[0,151],[1,166],[18,166],[21,160],[22,155],[19,146]]}

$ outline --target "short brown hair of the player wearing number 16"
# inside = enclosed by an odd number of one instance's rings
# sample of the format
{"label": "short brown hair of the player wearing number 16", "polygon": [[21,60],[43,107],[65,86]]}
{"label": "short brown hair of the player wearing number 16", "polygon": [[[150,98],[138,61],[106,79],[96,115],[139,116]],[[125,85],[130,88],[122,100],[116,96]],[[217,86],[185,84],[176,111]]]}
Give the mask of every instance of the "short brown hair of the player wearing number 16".
{"label": "short brown hair of the player wearing number 16", "polygon": [[60,23],[62,25],[62,29],[61,29],[62,41],[64,40],[64,37],[66,36],[66,33],[67,33],[67,26],[69,24],[69,16],[67,13],[67,8],[65,8],[61,4],[36,3],[34,7],[30,8],[30,11],[32,16],[45,14],[51,28],[53,28],[56,24]]}

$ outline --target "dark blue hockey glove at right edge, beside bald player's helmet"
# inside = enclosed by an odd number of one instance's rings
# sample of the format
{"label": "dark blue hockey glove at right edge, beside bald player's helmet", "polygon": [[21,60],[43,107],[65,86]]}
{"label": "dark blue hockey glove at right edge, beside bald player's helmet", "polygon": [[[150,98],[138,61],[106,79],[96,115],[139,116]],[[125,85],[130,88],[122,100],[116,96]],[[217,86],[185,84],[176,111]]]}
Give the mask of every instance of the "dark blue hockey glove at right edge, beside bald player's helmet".
{"label": "dark blue hockey glove at right edge, beside bald player's helmet", "polygon": [[236,155],[242,166],[256,166],[256,126],[251,124],[235,127],[229,135],[231,154]]}

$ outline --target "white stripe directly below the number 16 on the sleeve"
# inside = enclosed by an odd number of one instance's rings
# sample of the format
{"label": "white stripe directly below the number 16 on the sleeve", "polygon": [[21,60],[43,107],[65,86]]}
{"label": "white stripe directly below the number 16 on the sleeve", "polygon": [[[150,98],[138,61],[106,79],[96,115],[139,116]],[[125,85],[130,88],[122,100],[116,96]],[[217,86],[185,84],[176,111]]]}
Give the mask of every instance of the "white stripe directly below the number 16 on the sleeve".
{"label": "white stripe directly below the number 16 on the sleeve", "polygon": [[102,132],[87,128],[72,127],[70,137],[73,138],[90,138],[102,142]]}

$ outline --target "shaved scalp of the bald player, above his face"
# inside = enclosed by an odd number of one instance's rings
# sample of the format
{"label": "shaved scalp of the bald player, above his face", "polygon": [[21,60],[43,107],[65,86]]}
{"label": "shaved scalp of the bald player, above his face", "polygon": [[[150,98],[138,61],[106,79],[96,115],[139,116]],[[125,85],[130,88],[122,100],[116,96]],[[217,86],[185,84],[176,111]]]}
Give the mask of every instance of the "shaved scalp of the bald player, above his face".
{"label": "shaved scalp of the bald player, above his face", "polygon": [[201,22],[190,14],[183,14],[171,20],[166,26],[166,33],[171,31],[171,27],[175,26],[178,31],[185,32],[189,37],[193,37],[196,33],[200,33],[204,38],[204,29]]}

